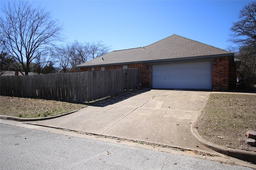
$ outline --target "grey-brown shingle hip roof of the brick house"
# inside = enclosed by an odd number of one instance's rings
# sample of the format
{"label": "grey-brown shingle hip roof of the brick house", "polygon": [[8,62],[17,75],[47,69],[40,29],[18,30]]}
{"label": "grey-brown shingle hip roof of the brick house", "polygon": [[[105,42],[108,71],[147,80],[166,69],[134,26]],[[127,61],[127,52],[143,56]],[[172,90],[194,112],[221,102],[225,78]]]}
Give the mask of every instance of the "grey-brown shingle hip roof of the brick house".
{"label": "grey-brown shingle hip roof of the brick house", "polygon": [[234,53],[174,34],[145,47],[112,51],[77,67],[190,59],[215,55],[234,55]]}

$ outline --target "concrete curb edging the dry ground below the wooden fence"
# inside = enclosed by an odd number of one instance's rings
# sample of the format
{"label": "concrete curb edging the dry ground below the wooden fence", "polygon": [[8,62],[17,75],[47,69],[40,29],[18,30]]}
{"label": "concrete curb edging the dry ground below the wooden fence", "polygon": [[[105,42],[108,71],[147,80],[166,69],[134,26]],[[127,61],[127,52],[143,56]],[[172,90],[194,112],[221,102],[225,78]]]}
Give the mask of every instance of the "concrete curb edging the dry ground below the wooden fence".
{"label": "concrete curb edging the dry ground below the wooden fence", "polygon": [[74,113],[76,111],[78,111],[78,110],[70,111],[70,112],[64,113],[62,115],[56,115],[56,116],[50,116],[50,117],[38,117],[38,118],[22,118],[22,117],[16,117],[16,116],[0,115],[0,119],[13,120],[13,121],[40,121],[40,120],[54,119],[54,118],[61,117],[61,116],[64,116],[64,115],[69,115],[69,114]]}

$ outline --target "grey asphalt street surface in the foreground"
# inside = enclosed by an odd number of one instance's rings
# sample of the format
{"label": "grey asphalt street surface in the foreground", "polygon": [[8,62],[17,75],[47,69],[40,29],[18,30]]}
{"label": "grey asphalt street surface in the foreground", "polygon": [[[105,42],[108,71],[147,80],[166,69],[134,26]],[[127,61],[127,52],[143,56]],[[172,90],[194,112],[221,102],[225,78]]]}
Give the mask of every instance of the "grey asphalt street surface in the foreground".
{"label": "grey asphalt street surface in the foreground", "polygon": [[249,170],[159,152],[0,123],[0,169]]}

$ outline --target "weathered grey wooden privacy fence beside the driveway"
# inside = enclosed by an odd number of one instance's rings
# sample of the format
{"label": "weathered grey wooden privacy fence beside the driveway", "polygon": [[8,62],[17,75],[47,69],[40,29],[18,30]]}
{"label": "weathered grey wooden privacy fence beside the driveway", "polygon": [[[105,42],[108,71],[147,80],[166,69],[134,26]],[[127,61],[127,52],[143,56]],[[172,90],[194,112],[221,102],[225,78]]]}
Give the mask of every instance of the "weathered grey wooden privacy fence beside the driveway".
{"label": "weathered grey wooden privacy fence beside the driveway", "polygon": [[0,93],[4,96],[88,102],[136,89],[139,84],[138,68],[1,76]]}

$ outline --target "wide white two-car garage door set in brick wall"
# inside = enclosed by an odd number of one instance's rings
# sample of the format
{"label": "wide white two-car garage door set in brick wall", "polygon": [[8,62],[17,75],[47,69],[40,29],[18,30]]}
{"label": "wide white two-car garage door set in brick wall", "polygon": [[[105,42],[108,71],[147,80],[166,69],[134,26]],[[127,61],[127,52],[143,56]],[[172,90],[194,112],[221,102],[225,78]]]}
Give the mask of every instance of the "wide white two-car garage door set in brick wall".
{"label": "wide white two-car garage door set in brick wall", "polygon": [[153,65],[152,87],[212,89],[212,62]]}

